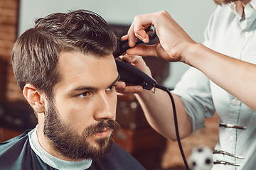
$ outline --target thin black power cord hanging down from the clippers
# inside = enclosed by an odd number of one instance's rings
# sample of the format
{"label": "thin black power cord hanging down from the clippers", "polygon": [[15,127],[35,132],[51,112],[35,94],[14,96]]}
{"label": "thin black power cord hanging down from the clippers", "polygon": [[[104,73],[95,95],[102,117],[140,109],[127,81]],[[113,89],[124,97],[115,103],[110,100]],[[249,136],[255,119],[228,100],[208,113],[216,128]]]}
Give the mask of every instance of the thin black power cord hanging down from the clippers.
{"label": "thin black power cord hanging down from the clippers", "polygon": [[177,142],[178,142],[178,147],[180,149],[181,157],[182,157],[183,162],[184,162],[184,164],[186,166],[186,169],[189,170],[188,162],[186,161],[186,157],[185,157],[185,154],[183,152],[182,145],[181,145],[181,137],[180,137],[179,132],[178,132],[178,119],[177,119],[176,107],[175,107],[175,103],[174,103],[174,97],[171,95],[171,92],[169,91],[169,89],[167,89],[165,86],[162,86],[161,84],[155,84],[155,87],[157,89],[161,89],[163,91],[166,91],[167,94],[169,94],[169,96],[171,98],[171,104],[172,104],[173,112],[174,112],[174,125],[175,125],[175,131],[176,131],[176,138],[177,138]]}

